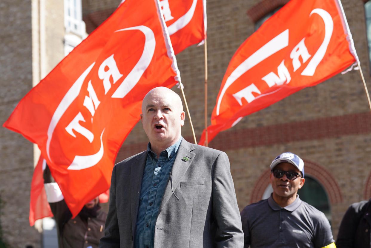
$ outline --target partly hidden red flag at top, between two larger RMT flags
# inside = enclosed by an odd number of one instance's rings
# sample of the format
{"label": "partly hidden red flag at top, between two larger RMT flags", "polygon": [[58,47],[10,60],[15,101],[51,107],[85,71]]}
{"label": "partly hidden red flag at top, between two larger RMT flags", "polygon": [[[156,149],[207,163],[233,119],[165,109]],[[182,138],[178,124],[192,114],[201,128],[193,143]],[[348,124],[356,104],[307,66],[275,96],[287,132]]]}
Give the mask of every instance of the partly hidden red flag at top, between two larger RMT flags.
{"label": "partly hidden red flag at top, between two larger RMT flags", "polygon": [[160,4],[175,54],[205,39],[206,0],[162,0]]}

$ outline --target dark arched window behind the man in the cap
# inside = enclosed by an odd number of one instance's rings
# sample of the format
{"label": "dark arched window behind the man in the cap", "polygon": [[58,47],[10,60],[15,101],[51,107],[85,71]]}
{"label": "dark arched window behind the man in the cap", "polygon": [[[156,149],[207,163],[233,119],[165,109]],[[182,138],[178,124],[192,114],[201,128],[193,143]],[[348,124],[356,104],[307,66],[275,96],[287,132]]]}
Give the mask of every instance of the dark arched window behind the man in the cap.
{"label": "dark arched window behind the man in the cap", "polygon": [[[273,192],[272,186],[269,184],[264,191],[262,199],[267,199]],[[322,185],[310,175],[305,175],[304,186],[299,189],[298,195],[300,199],[311,204],[316,209],[323,212],[331,223],[330,204],[326,191]]]}

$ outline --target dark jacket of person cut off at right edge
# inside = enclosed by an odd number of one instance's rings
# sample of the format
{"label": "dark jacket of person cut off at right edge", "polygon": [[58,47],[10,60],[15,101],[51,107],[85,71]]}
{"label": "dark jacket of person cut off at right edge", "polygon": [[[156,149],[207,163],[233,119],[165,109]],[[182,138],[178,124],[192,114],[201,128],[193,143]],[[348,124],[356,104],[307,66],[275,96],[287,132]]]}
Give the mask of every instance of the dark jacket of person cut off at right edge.
{"label": "dark jacket of person cut off at right edge", "polygon": [[371,199],[353,203],[345,212],[336,240],[337,248],[371,247]]}

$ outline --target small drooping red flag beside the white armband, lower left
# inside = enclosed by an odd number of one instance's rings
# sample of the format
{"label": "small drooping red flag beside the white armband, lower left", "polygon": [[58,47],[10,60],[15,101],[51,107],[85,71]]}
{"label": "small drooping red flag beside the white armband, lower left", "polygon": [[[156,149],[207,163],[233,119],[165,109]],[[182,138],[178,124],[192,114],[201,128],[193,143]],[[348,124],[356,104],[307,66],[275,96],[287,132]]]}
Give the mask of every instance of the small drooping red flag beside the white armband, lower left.
{"label": "small drooping red flag beside the white armband, lower left", "polygon": [[33,171],[32,183],[31,183],[31,194],[30,194],[30,226],[35,224],[35,220],[42,219],[45,217],[53,216],[52,210],[50,210],[49,203],[46,200],[46,192],[44,188],[43,179],[43,168],[45,166],[45,160],[40,155],[39,162]]}

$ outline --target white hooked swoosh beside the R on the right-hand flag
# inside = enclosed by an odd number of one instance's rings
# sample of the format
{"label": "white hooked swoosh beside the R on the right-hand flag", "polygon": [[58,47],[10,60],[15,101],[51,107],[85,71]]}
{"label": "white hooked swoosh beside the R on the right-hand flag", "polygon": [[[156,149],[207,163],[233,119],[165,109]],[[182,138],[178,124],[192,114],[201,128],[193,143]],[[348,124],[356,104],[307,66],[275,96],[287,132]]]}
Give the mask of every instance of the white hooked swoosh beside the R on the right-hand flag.
{"label": "white hooked swoosh beside the R on the right-hand flag", "polygon": [[303,76],[313,76],[319,62],[321,62],[321,60],[325,56],[327,46],[330,43],[330,39],[331,39],[331,36],[332,36],[332,31],[334,30],[334,22],[332,21],[331,15],[328,12],[326,12],[326,10],[313,9],[309,16],[311,16],[313,13],[317,13],[324,20],[324,23],[325,23],[325,38],[324,38],[324,41],[322,42],[321,46],[319,46],[315,55],[313,55],[313,58],[311,59],[311,61],[309,61],[308,65],[302,71],[301,75],[303,75]]}

